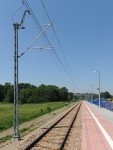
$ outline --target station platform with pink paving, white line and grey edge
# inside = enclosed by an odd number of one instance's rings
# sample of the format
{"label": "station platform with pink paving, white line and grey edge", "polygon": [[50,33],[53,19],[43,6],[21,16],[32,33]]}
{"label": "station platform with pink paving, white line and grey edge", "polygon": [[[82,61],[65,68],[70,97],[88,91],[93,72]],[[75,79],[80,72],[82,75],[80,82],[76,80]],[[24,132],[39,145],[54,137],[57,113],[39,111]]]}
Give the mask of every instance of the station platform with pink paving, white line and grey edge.
{"label": "station platform with pink paving, white line and grey edge", "polygon": [[113,112],[83,101],[82,150],[113,150]]}

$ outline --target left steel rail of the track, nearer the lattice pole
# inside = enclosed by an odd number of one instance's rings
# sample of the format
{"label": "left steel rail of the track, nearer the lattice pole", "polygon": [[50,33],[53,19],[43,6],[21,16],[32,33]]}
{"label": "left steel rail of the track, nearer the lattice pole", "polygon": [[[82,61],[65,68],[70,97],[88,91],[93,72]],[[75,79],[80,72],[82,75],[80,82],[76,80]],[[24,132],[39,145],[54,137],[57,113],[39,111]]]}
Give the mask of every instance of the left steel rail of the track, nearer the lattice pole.
{"label": "left steel rail of the track, nearer the lattice pole", "polygon": [[30,143],[24,150],[30,150],[33,146],[38,143],[54,126],[56,126],[65,116],[67,116],[76,106],[78,106],[79,102],[72,107],[65,115],[63,115],[58,121],[56,121],[50,128],[48,128],[44,133],[42,133],[38,138],[36,138],[32,143]]}

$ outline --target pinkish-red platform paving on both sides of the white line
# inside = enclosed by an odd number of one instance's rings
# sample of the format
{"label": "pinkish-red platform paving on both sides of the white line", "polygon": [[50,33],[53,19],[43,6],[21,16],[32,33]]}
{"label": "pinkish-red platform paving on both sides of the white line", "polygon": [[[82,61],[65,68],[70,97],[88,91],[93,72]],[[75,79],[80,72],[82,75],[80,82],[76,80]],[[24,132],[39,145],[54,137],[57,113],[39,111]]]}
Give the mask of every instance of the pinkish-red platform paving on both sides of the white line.
{"label": "pinkish-red platform paving on both sides of the white line", "polygon": [[91,105],[87,102],[83,102],[82,113],[82,150],[112,150],[106,141],[104,135],[99,129],[97,123],[90,114],[86,104],[93,112],[95,117],[107,131],[109,136],[113,139],[113,124],[107,121],[102,115],[100,115]]}

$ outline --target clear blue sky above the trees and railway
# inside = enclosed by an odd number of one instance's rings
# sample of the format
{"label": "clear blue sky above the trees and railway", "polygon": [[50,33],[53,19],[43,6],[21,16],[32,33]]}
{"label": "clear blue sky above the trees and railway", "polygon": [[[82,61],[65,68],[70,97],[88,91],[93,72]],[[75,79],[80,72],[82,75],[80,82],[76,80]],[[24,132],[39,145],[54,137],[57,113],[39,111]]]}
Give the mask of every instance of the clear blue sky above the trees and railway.
{"label": "clear blue sky above the trees and railway", "polygon": [[[86,92],[91,90],[89,83],[97,93],[98,74],[101,74],[101,91],[113,94],[113,0],[43,0],[49,16],[54,24],[63,52],[69,64],[62,56],[52,28],[47,36],[54,43],[55,52],[65,66],[69,76],[51,50],[30,49],[19,58],[19,82],[55,84],[66,86],[70,91]],[[49,20],[42,8],[40,0],[28,0],[40,24],[48,24]],[[1,0],[0,5],[0,83],[14,80],[14,31],[12,15],[22,6],[21,0]],[[20,23],[25,7],[13,17]],[[19,54],[38,36],[29,15],[25,18],[24,30],[19,30]],[[33,47],[46,47],[41,37]],[[73,82],[71,79],[73,78]]]}

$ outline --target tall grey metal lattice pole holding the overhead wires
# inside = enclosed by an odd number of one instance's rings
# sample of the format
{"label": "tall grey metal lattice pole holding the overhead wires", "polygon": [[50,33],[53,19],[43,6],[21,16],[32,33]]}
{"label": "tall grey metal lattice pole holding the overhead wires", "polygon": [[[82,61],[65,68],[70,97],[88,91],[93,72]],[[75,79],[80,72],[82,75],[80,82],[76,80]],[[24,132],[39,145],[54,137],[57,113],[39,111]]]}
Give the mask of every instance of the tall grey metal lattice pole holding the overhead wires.
{"label": "tall grey metal lattice pole holding the overhead wires", "polygon": [[18,126],[18,29],[24,29],[23,22],[26,13],[30,13],[28,10],[24,11],[21,23],[17,22],[13,24],[14,27],[14,140],[20,139],[19,126]]}

